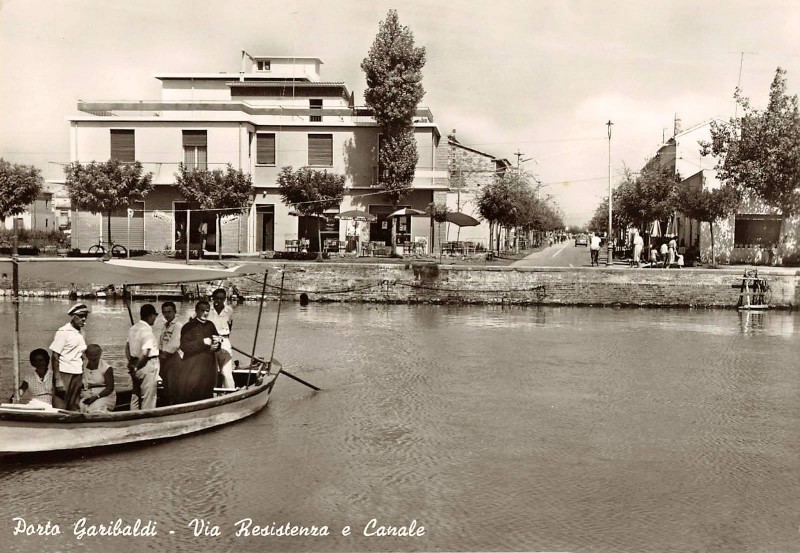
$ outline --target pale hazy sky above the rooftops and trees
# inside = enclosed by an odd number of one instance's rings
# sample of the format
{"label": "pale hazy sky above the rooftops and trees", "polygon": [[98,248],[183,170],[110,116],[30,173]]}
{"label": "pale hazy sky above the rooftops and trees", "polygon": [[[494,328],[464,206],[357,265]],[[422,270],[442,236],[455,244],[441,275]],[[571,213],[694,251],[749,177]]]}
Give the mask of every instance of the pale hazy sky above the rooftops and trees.
{"label": "pale hazy sky above the rooftops and trees", "polygon": [[79,99],[158,100],[153,75],[237,72],[243,49],[319,57],[363,105],[389,9],[426,49],[442,135],[519,159],[570,225],[608,194],[609,146],[613,185],[676,116],[732,117],[737,83],[763,107],[780,66],[800,91],[797,0],[0,0],[0,157],[60,178]]}

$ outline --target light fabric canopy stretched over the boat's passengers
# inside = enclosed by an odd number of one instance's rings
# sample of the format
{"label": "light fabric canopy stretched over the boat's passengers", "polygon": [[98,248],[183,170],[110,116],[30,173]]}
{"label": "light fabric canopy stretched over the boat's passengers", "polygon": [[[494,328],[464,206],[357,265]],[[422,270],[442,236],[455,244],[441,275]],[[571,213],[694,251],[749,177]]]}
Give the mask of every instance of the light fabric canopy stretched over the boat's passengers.
{"label": "light fabric canopy stretched over the boat's passengers", "polygon": [[[0,271],[4,279],[11,279],[13,260],[0,258]],[[69,258],[19,258],[19,279],[53,283],[95,284],[99,286],[176,284],[205,282],[231,277],[263,273],[264,268],[254,264],[236,267],[209,268],[178,263],[137,261],[130,259],[69,259]]]}

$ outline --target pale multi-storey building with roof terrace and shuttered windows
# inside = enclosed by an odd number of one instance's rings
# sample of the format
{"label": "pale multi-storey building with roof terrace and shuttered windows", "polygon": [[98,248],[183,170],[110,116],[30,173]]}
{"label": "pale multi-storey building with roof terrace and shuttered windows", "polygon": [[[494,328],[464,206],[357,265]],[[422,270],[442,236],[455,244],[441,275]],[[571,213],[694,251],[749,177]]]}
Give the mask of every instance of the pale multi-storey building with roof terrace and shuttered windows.
{"label": "pale multi-storey building with roof terrace and shuttered windows", "polygon": [[[182,249],[186,229],[207,249],[223,252],[284,250],[287,241],[307,238],[316,249],[317,220],[290,216],[278,195],[283,167],[308,166],[343,174],[344,200],[322,222],[322,238],[344,241],[352,222],[339,211],[361,209],[377,221],[360,225],[361,240],[390,240],[395,225],[400,242],[427,236],[427,217],[386,216],[391,201],[378,180],[380,129],[371,111],[354,104],[343,82],[320,78],[315,57],[250,56],[243,52],[238,73],[169,73],[159,101],[79,101],[81,115],[69,118],[73,161],[140,161],[153,174],[155,190],[129,212],[112,214],[112,238],[133,249]],[[402,206],[424,209],[437,191],[448,188],[447,146],[427,108],[414,118],[419,162],[413,190]],[[175,187],[180,163],[190,168],[225,168],[253,177],[252,204],[243,215],[188,210]],[[188,214],[188,216],[187,216]],[[73,213],[73,247],[86,249],[108,237],[103,215]],[[130,229],[130,230],[128,230]],[[219,245],[221,238],[221,245]]]}

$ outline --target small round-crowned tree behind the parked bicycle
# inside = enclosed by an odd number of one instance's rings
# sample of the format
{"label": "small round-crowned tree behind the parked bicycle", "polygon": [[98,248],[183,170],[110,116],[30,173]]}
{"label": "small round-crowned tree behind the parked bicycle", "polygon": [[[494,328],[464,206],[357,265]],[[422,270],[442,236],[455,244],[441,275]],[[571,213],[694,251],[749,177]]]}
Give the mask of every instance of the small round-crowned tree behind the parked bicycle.
{"label": "small round-crowned tree behind the parked bicycle", "polygon": [[[64,168],[65,186],[72,205],[91,213],[108,216],[108,242],[111,245],[111,214],[141,201],[153,190],[153,174],[142,174],[142,164],[117,160],[74,162]],[[109,247],[110,251],[110,247]]]}

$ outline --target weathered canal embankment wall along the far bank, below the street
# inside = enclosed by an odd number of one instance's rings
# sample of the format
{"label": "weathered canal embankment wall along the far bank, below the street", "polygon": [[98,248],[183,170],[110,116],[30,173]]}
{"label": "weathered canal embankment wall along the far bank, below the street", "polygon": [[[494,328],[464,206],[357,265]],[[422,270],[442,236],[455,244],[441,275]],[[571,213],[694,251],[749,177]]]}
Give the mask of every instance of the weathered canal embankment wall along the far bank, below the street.
{"label": "weathered canal embankment wall along the far bank, below the street", "polygon": [[[392,264],[261,264],[267,295],[277,299],[285,267],[284,299],[330,302],[598,305],[639,307],[736,307],[744,267],[724,269],[631,269],[471,267],[429,262]],[[770,306],[800,305],[800,273],[760,268],[771,288]],[[261,293],[261,276],[234,279],[247,298]],[[86,296],[105,283],[79,295]],[[21,283],[26,296],[68,296],[46,282]],[[8,286],[0,291],[10,295]]]}

